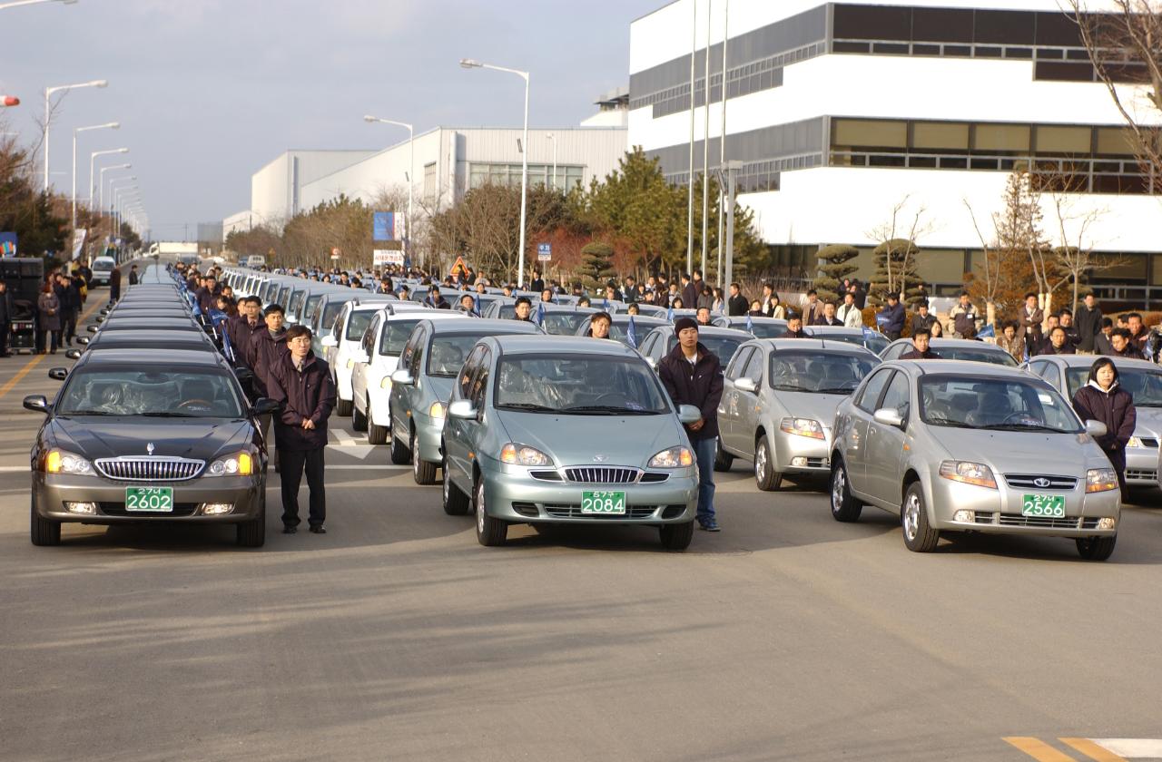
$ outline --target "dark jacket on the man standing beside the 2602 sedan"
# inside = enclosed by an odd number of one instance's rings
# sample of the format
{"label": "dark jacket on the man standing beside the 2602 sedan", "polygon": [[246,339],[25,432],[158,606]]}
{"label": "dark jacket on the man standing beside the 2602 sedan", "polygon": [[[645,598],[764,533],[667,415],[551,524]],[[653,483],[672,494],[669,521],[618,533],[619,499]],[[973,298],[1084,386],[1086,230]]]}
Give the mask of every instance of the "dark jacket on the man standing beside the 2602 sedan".
{"label": "dark jacket on the man standing beside the 2602 sedan", "polygon": [[[284,345],[285,346],[285,345]],[[274,417],[274,446],[279,450],[320,450],[327,446],[327,420],[335,410],[335,383],[327,360],[314,352],[295,368],[294,358],[284,352],[270,368],[267,395],[282,403]],[[303,429],[310,419],[314,429]]]}

